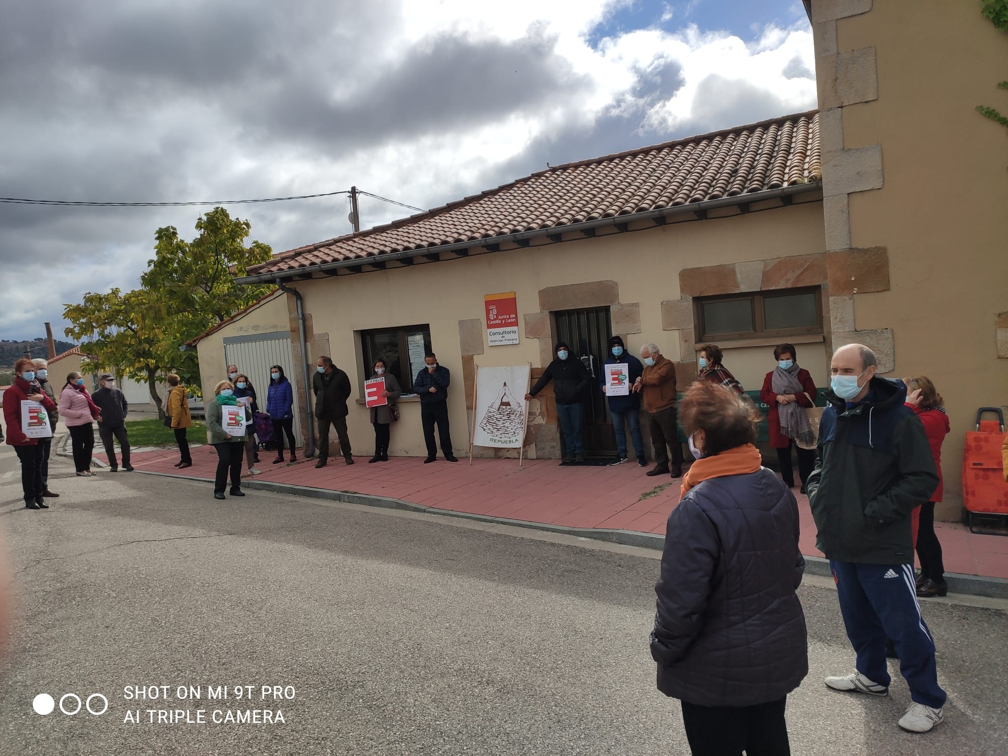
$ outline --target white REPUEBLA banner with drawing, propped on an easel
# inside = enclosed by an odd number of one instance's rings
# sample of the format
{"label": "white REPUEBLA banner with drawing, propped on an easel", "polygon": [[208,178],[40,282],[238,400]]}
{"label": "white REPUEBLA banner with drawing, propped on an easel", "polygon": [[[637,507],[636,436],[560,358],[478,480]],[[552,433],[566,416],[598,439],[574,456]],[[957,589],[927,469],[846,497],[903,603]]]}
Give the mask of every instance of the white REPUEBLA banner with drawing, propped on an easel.
{"label": "white REPUEBLA banner with drawing, propped on an easel", "polygon": [[521,449],[527,393],[528,365],[477,370],[473,445]]}

